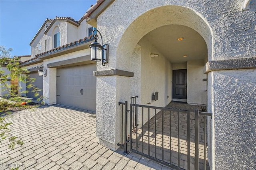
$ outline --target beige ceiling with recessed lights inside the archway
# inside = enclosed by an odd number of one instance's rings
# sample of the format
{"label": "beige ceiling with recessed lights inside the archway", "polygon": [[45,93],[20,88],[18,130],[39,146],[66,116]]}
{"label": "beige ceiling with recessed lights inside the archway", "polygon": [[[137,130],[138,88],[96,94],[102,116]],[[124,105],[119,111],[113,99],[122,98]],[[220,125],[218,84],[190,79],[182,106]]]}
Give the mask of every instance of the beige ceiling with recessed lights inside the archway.
{"label": "beige ceiling with recessed lights inside the archway", "polygon": [[[177,39],[184,37],[182,41]],[[203,37],[184,25],[165,25],[150,31],[143,38],[148,39],[172,64],[189,60],[207,59],[207,45]],[[183,57],[187,55],[187,57]]]}

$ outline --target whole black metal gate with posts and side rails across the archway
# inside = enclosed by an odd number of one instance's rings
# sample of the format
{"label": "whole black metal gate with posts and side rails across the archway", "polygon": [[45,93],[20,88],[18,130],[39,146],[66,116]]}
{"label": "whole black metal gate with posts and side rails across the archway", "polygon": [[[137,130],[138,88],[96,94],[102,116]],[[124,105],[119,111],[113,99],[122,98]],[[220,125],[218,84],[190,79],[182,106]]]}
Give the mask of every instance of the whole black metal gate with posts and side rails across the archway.
{"label": "whole black metal gate with posts and side rails across the archway", "polygon": [[[122,106],[124,154],[135,152],[175,169],[207,168],[207,117],[211,113],[136,104]],[[132,133],[130,133],[132,132]]]}

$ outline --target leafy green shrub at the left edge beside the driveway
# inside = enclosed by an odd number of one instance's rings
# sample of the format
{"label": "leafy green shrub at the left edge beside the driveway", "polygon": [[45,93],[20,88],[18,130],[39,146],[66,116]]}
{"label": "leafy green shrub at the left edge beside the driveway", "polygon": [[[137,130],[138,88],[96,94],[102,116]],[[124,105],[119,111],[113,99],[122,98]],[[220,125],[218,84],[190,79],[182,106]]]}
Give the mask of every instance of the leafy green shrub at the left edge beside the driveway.
{"label": "leafy green shrub at the left edge beside the driveway", "polygon": [[[35,78],[30,78],[27,76],[28,70],[25,67],[20,66],[19,58],[10,55],[12,49],[6,49],[4,46],[0,46],[0,83],[2,91],[6,92],[5,96],[0,98],[0,143],[8,138],[10,141],[9,147],[14,149],[15,145],[23,145],[21,139],[12,136],[12,131],[9,126],[12,123],[7,123],[6,118],[10,117],[11,112],[9,111],[12,107],[26,107],[24,106],[24,98],[22,94],[28,93],[28,90],[31,89],[34,92],[34,96],[37,97],[37,101],[44,104],[44,97],[40,96],[39,88],[36,88],[33,85]],[[2,68],[6,67],[8,72],[4,71]],[[27,85],[28,90],[22,90],[22,87],[13,85],[11,81],[17,80],[18,82],[24,82]]]}

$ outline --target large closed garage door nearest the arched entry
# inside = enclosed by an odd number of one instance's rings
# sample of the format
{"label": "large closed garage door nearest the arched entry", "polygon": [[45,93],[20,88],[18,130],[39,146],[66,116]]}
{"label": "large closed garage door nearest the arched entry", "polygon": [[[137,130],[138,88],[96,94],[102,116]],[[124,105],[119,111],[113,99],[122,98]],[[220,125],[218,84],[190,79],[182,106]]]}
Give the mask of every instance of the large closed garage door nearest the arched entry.
{"label": "large closed garage door nearest the arched entry", "polygon": [[96,64],[57,68],[57,104],[96,111]]}

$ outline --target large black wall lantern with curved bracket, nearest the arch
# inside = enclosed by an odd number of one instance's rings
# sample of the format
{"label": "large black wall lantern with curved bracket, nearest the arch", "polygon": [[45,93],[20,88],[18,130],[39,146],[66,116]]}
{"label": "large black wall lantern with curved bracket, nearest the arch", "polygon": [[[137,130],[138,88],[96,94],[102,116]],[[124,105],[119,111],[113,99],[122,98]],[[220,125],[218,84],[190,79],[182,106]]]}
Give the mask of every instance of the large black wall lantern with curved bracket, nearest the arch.
{"label": "large black wall lantern with curved bracket, nearest the arch", "polygon": [[[95,34],[94,31],[96,31]],[[97,41],[99,39],[97,32],[100,34],[101,44]],[[101,33],[97,29],[92,31],[92,36],[95,41],[89,45],[91,49],[91,61],[102,61],[102,66],[104,66],[108,63],[108,44],[103,45]]]}

